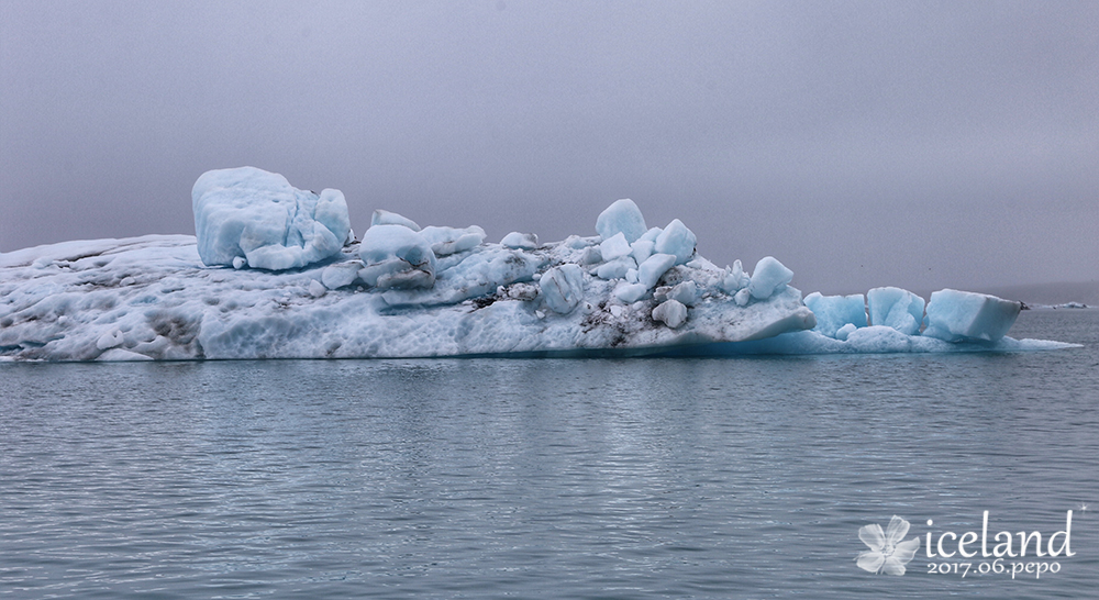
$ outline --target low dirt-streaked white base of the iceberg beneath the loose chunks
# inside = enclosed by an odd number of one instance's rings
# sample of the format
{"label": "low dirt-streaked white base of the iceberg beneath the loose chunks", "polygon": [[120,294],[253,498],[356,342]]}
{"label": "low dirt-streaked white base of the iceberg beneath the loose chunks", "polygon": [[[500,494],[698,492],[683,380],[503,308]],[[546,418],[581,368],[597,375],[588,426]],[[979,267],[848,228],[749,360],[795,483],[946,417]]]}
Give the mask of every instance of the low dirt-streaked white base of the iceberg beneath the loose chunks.
{"label": "low dirt-streaked white base of the iceberg beneath the loose chunks", "polygon": [[[630,284],[600,279],[578,266],[585,249],[599,243],[598,236],[574,236],[536,249],[480,244],[440,257],[435,284],[423,290],[366,288],[356,277],[364,266],[357,244],[329,263],[279,273],[208,267],[189,235],[25,248],[0,255],[0,356],[140,360],[735,355],[1068,346],[1008,337],[950,343],[886,326],[858,327],[846,341],[835,340],[801,331],[815,321],[795,288],[787,286],[765,301],[741,307],[721,287],[729,271],[697,257],[688,265],[669,266],[655,290],[642,290],[642,299],[624,302],[614,292]],[[342,280],[325,277],[341,269]],[[550,277],[543,277],[547,271]],[[560,281],[565,289],[547,295],[539,281],[544,278]],[[693,286],[673,292],[674,286],[688,281]],[[688,308],[676,295],[693,300],[693,305]],[[654,309],[671,301],[676,304],[657,311],[654,319]]]}

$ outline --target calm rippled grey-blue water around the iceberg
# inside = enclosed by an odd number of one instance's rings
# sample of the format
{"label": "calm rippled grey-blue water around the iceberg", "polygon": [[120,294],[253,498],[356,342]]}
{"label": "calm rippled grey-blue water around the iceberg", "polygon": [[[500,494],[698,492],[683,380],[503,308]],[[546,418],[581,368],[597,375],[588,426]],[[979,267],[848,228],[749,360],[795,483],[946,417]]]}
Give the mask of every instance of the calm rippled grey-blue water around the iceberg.
{"label": "calm rippled grey-blue water around the iceberg", "polygon": [[[0,364],[0,598],[1094,598],[1099,311],[1011,335],[1086,347]],[[1068,509],[1041,579],[855,566]]]}

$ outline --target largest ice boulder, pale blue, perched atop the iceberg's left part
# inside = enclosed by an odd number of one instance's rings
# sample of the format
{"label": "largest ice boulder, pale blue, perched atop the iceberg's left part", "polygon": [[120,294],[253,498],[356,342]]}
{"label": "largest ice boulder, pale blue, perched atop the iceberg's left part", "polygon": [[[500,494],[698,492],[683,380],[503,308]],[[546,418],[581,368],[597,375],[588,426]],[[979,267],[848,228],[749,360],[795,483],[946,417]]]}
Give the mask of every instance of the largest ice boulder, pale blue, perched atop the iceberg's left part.
{"label": "largest ice boulder, pale blue, perched atop the iceberg's left part", "polygon": [[202,174],[191,189],[202,263],[269,270],[301,268],[340,252],[351,236],[338,190],[320,196],[255,167]]}

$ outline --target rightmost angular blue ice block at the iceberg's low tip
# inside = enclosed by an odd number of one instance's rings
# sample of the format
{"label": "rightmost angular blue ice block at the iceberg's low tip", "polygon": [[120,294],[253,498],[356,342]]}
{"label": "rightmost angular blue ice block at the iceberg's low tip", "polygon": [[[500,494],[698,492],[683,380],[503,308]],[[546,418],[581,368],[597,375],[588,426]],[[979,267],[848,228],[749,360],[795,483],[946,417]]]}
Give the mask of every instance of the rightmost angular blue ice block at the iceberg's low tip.
{"label": "rightmost angular blue ice block at the iceberg's low tip", "polygon": [[1007,335],[1021,308],[1019,302],[995,296],[940,290],[931,295],[928,303],[928,329],[923,335],[947,342],[996,342]]}

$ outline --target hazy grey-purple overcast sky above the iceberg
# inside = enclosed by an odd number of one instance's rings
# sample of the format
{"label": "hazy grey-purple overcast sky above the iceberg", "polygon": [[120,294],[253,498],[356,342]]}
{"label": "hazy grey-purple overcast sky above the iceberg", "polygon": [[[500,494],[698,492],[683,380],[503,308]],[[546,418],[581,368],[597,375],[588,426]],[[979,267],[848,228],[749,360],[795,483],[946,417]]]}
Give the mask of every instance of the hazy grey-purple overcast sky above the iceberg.
{"label": "hazy grey-purple overcast sky above the iceberg", "polygon": [[1099,279],[1099,2],[0,0],[0,252],[252,165],[498,241],[632,198],[806,292]]}

